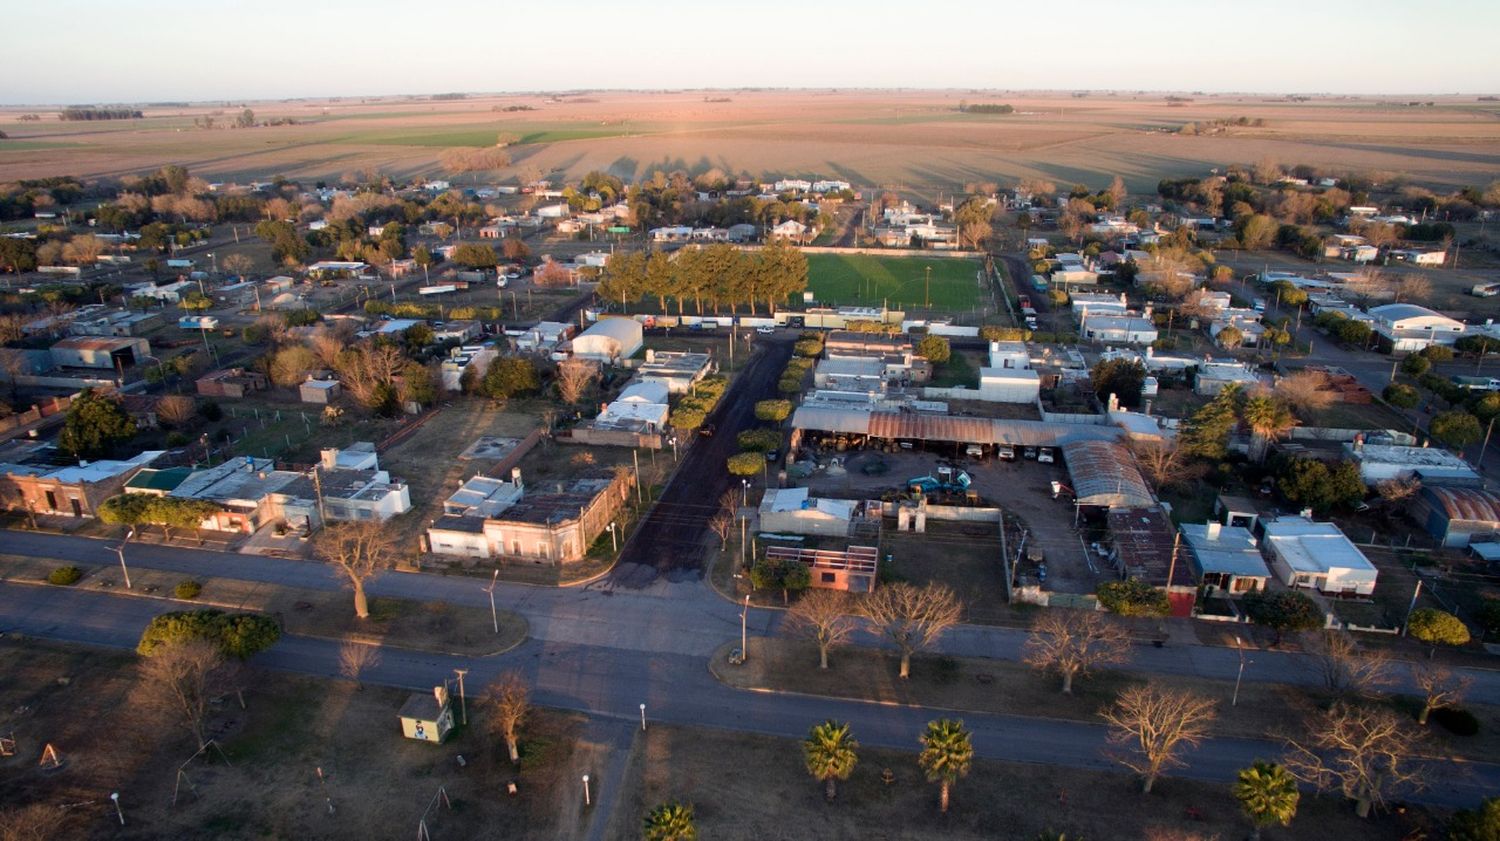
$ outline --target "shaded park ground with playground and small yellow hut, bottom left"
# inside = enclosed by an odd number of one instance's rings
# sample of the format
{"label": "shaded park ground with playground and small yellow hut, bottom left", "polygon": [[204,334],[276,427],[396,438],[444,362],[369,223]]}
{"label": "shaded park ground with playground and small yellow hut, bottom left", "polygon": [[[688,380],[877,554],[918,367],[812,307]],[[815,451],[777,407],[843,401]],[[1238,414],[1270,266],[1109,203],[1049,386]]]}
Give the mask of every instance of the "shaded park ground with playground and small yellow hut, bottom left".
{"label": "shaded park ground with playground and small yellow hut, bottom left", "polygon": [[[228,763],[214,754],[186,765],[174,807],[192,739],[142,703],[135,660],[36,640],[0,643],[0,673],[12,678],[0,682],[0,708],[24,711],[6,723],[21,750],[0,759],[0,802],[70,805],[48,838],[410,838],[424,813],[434,838],[586,832],[578,780],[598,774],[603,751],[578,715],[534,709],[513,768],[504,744],[484,735],[472,684],[468,727],[432,745],[400,735],[396,711],[406,690],[258,670],[248,675],[246,709],[230,700],[210,715]],[[58,772],[36,768],[46,742],[66,763]],[[507,783],[518,784],[516,795],[506,795]],[[452,808],[429,811],[440,786]],[[114,823],[110,792],[120,793],[126,826]]]}

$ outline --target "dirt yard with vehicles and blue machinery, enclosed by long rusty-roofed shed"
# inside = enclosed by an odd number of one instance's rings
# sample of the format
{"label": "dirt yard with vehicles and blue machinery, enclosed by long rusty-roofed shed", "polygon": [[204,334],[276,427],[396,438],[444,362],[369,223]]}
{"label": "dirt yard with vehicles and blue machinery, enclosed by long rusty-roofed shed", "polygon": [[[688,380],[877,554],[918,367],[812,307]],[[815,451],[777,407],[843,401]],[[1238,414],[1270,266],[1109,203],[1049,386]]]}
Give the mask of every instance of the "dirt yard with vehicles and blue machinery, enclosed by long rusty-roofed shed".
{"label": "dirt yard with vehicles and blue machinery, enclosed by long rusty-roofed shed", "polygon": [[[942,447],[942,450],[948,450]],[[1066,484],[1068,471],[1060,463],[1044,465],[1017,457],[1004,462],[954,459],[942,451],[880,453],[874,450],[825,451],[818,468],[806,478],[789,478],[789,484],[808,487],[813,496],[878,499],[886,492],[902,490],[909,480],[936,475],[939,466],[958,466],[969,474],[969,490],[982,504],[996,505],[1023,523],[1028,544],[1041,550],[1047,565],[1042,589],[1070,594],[1092,594],[1098,582],[1110,579],[1107,568],[1090,559],[1083,532],[1074,526],[1071,496],[1052,496],[1052,483]],[[1017,552],[1011,532],[1010,552]],[[910,537],[906,537],[910,540]],[[938,543],[938,541],[933,541]],[[963,541],[942,541],[944,552],[954,556],[968,553]],[[993,552],[993,550],[992,550]],[[1022,576],[1035,577],[1035,564],[1023,562]],[[996,598],[1000,598],[998,594]]]}

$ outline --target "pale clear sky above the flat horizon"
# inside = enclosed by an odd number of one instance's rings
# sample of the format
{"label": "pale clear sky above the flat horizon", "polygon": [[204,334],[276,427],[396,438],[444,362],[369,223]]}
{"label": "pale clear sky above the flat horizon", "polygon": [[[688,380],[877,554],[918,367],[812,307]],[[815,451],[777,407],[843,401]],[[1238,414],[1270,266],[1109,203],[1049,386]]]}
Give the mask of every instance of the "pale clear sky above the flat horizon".
{"label": "pale clear sky above the flat horizon", "polygon": [[0,103],[578,88],[1497,93],[1494,0],[52,0]]}

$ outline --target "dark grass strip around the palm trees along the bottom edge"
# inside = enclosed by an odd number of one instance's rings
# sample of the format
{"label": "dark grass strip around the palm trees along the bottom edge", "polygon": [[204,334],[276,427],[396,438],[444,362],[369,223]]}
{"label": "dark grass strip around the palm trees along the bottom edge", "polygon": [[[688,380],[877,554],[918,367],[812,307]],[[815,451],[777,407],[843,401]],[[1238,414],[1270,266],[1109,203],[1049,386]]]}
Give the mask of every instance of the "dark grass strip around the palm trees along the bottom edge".
{"label": "dark grass strip around the palm trees along the bottom edge", "polygon": [[[854,774],[830,804],[807,775],[798,741],[654,724],[636,739],[630,801],[616,807],[606,838],[640,838],[642,816],[666,801],[692,804],[699,838],[716,841],[1028,841],[1047,829],[1089,841],[1206,841],[1250,832],[1227,786],[1167,778],[1144,796],[1126,774],[986,756],[975,757],[952,787],[948,814],[940,814],[938,787],[916,766],[916,736],[910,751],[860,748]],[[882,780],[886,769],[890,783]],[[1266,838],[1395,841],[1414,828],[1431,832],[1434,823],[1424,810],[1359,820],[1341,799],[1304,795],[1292,826],[1270,829]]]}

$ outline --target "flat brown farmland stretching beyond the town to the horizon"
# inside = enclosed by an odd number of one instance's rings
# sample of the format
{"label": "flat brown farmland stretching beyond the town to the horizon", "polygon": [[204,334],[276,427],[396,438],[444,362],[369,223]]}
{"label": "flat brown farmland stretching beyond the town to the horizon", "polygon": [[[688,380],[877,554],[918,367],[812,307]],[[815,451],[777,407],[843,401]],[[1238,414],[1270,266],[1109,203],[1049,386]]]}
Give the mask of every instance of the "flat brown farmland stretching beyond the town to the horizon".
{"label": "flat brown farmland stretching beyond the town to the horizon", "polygon": [[[626,180],[656,169],[718,168],[752,177],[822,175],[918,198],[966,181],[1050,178],[1095,189],[1119,174],[1132,192],[1162,177],[1204,174],[1270,157],[1332,171],[1406,174],[1416,183],[1480,184],[1500,172],[1500,105],[1437,97],[1407,108],[1378,97],[1287,102],[1257,94],[975,93],[890,90],[608,91],[588,97],[476,94],[464,100],[370,97],[249,102],[256,115],[297,124],[192,127],[222,105],[147,106],[146,118],[62,123],[46,108],[0,111],[0,174],[117,177],[183,163],[210,178],[338,178],[375,169],[438,175],[447,147],[512,138],[518,174],[578,178],[608,169]],[[960,99],[1008,102],[1010,115],[960,114]],[[506,111],[506,108],[526,108]],[[20,121],[39,112],[39,121]],[[1246,117],[1260,126],[1180,135],[1186,123]],[[68,145],[62,145],[68,144]]]}

